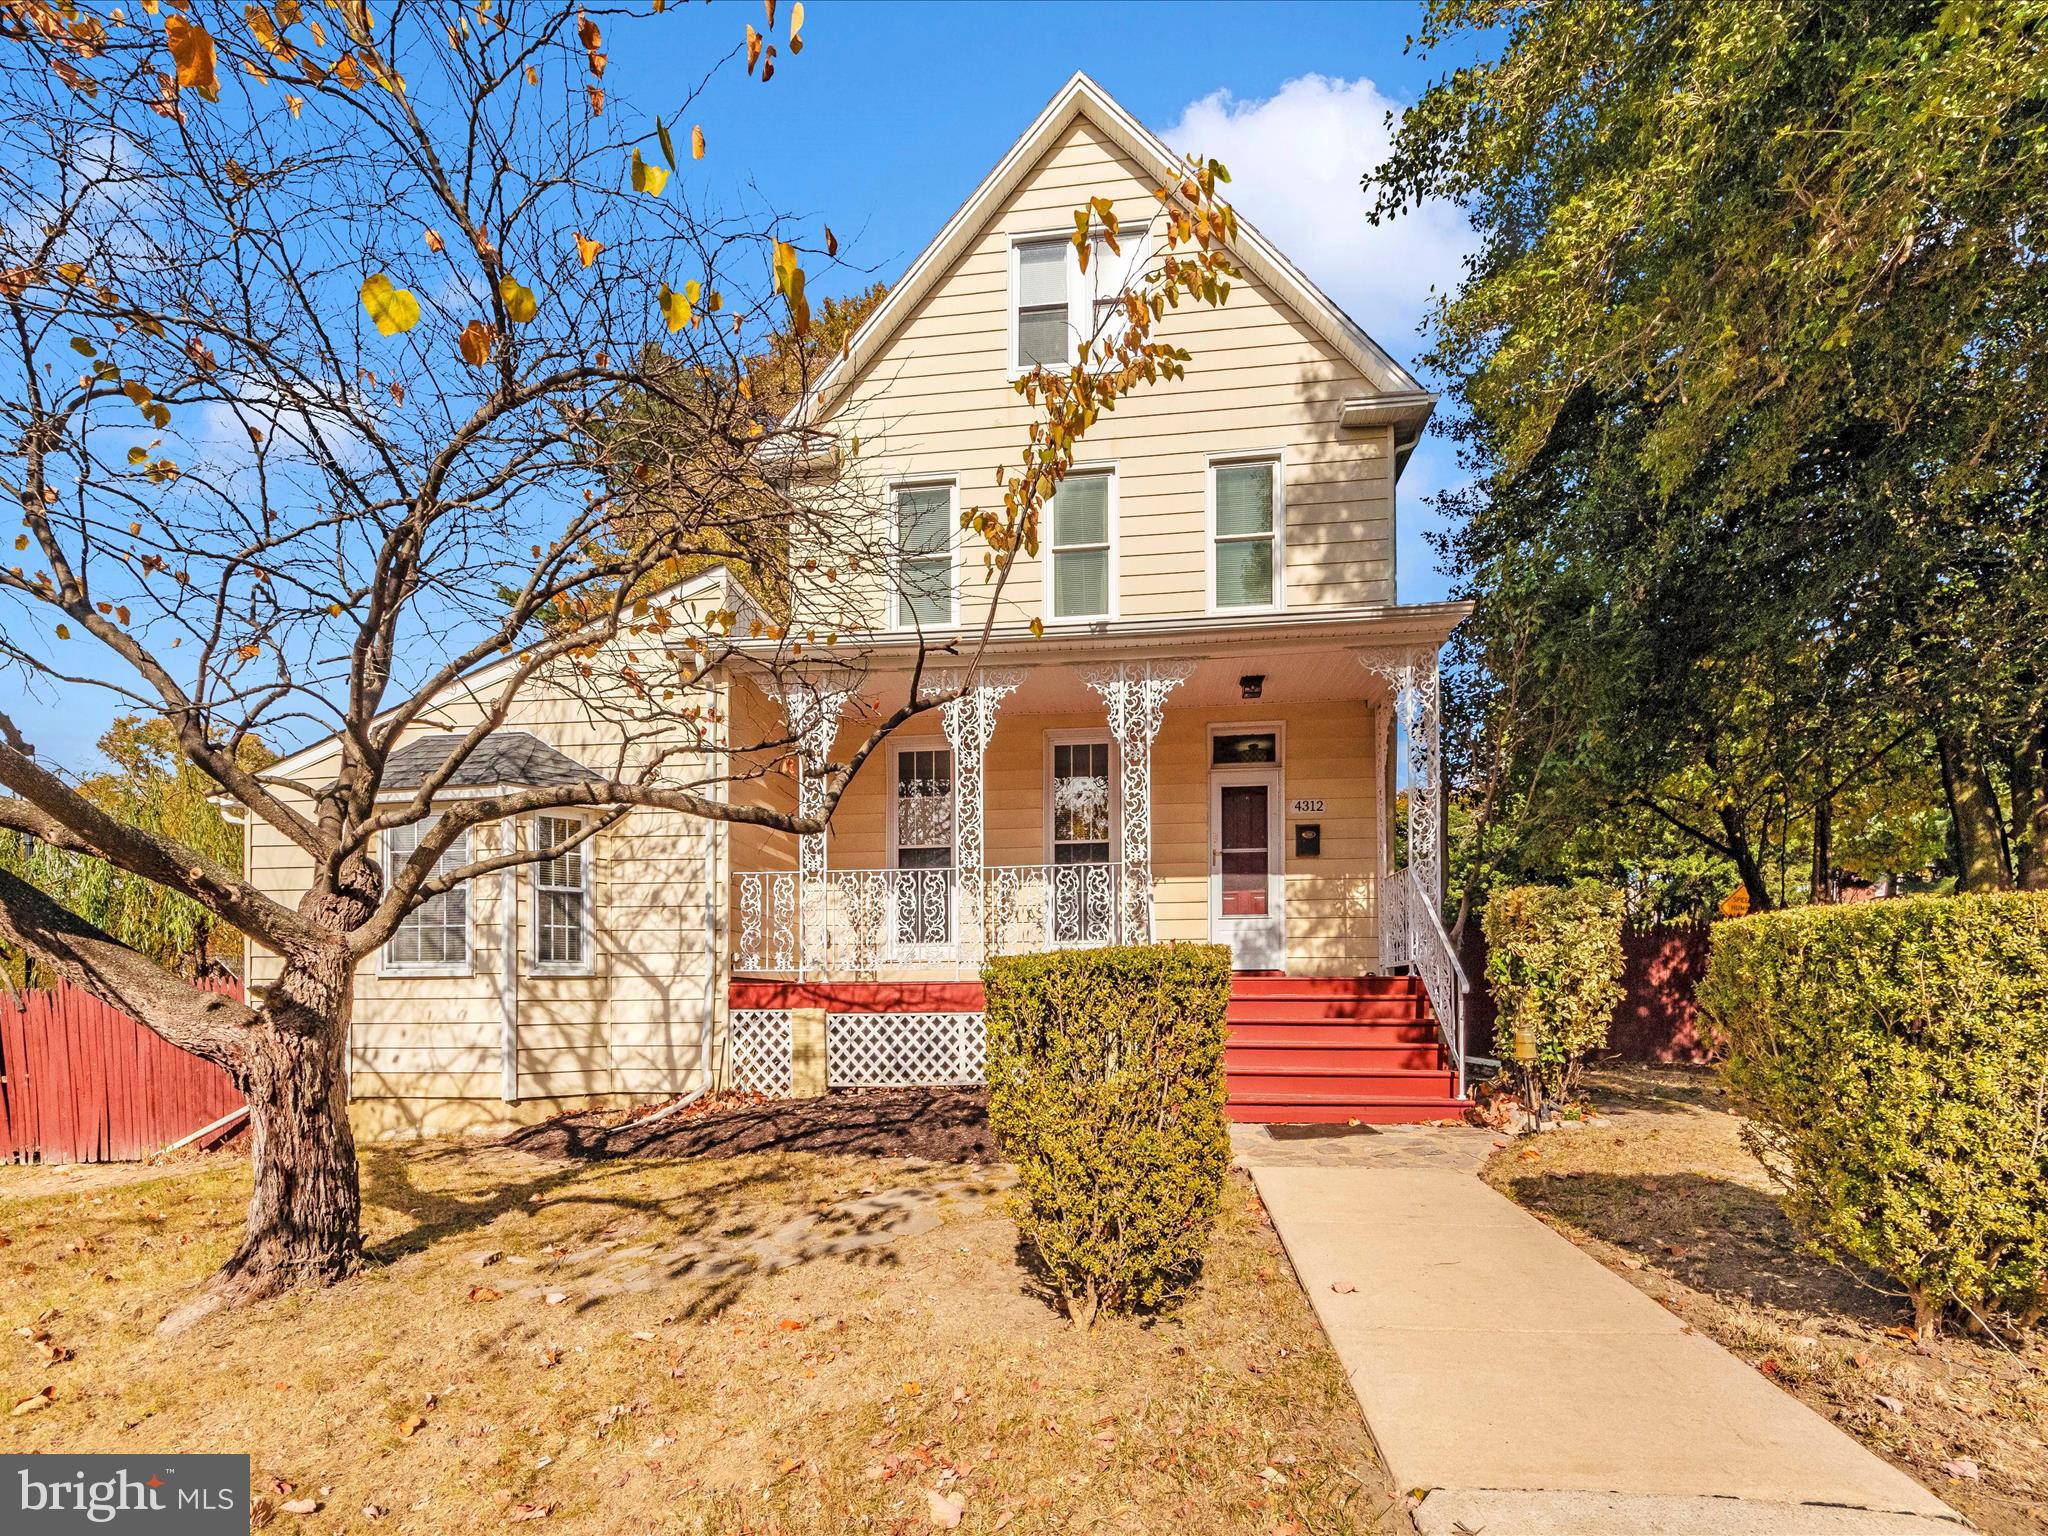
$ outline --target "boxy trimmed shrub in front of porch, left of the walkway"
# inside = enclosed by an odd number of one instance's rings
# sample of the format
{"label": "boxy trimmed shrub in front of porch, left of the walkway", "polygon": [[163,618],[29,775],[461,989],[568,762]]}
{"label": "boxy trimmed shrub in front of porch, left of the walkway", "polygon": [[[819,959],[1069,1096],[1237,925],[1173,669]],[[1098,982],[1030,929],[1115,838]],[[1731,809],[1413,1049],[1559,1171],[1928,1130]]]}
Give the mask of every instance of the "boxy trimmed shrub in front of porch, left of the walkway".
{"label": "boxy trimmed shrub in front of porch, left of the walkway", "polygon": [[1174,1300],[1223,1200],[1219,944],[989,961],[989,1128],[1018,1165],[1014,1210],[1067,1315]]}

